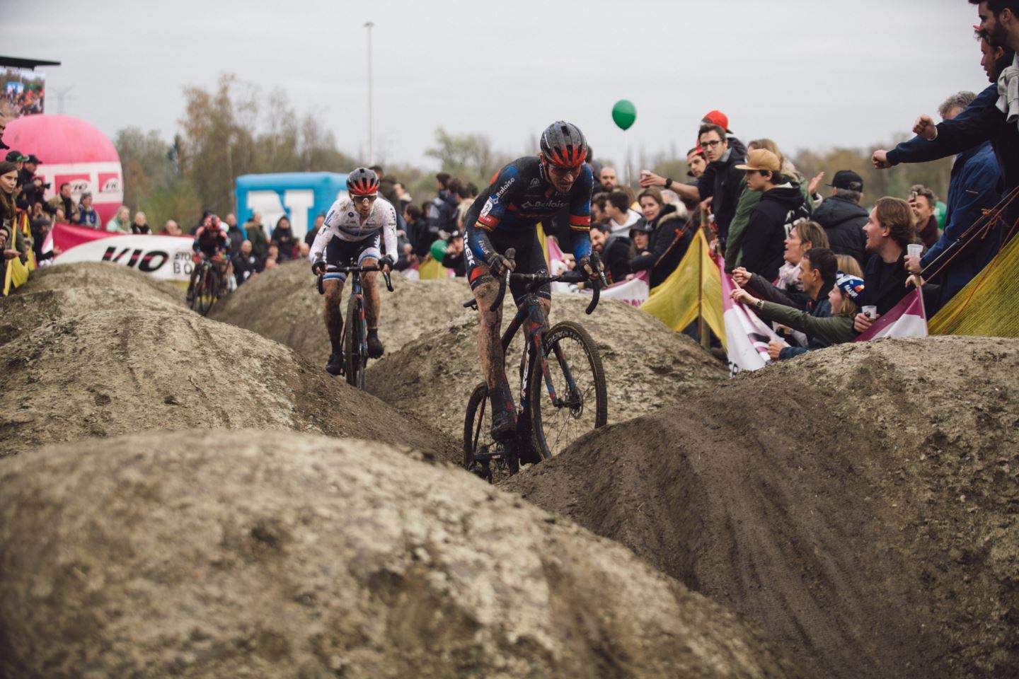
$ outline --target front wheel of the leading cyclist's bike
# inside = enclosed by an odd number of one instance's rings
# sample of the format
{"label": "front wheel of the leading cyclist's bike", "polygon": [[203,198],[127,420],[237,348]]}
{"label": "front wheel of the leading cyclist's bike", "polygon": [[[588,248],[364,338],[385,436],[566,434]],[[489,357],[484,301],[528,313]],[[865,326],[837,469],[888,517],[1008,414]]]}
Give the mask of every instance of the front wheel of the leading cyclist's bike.
{"label": "front wheel of the leading cyclist's bike", "polygon": [[541,366],[537,361],[531,365],[528,386],[531,423],[535,444],[545,459],[561,453],[588,432],[604,427],[608,419],[605,371],[594,340],[582,326],[571,321],[556,324],[545,334],[552,387],[556,397],[569,399],[572,395],[555,353],[556,346],[565,353],[564,359],[583,397],[583,404],[580,407],[558,408],[552,405]]}

